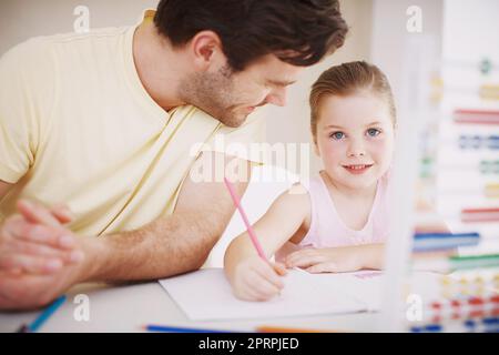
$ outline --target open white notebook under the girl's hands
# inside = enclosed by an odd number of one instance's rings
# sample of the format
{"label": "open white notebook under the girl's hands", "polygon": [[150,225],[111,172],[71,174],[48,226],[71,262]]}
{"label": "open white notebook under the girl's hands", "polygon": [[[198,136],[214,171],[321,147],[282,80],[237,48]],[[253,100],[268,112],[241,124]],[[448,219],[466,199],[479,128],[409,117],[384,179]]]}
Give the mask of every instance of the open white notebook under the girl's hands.
{"label": "open white notebook under the girl's hands", "polygon": [[237,300],[222,268],[204,268],[160,284],[191,320],[213,321],[377,311],[383,277],[380,272],[314,275],[289,270],[282,294],[267,302]]}

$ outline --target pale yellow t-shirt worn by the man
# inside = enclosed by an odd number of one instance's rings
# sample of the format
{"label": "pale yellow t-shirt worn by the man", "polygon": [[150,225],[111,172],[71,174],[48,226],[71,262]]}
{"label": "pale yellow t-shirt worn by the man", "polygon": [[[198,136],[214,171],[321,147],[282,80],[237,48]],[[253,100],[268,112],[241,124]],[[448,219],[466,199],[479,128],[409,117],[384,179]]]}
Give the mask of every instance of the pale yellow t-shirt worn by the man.
{"label": "pale yellow t-shirt worn by the man", "polygon": [[173,212],[196,143],[262,141],[262,118],[231,129],[160,108],[134,67],[135,28],[35,38],[0,59],[0,180],[16,183],[0,222],[28,197],[68,204],[80,235],[136,229]]}

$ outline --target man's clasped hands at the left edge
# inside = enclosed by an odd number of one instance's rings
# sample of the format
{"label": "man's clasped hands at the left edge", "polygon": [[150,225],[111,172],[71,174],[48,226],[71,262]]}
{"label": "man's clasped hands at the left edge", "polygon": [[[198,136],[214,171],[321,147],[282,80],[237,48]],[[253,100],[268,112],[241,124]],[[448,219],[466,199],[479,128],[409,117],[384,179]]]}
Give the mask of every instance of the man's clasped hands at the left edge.
{"label": "man's clasped hands at the left edge", "polygon": [[48,304],[89,272],[92,241],[78,239],[62,223],[62,207],[20,202],[19,214],[2,225],[0,308],[33,308]]}

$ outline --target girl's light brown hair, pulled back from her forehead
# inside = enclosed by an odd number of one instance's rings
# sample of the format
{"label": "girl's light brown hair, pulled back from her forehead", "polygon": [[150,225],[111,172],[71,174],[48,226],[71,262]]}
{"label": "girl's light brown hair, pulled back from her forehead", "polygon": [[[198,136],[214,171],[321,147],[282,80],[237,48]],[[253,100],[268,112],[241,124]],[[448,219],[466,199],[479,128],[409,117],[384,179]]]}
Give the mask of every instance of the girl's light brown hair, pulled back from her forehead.
{"label": "girl's light brown hair, pulled back from her forehead", "polygon": [[394,95],[386,75],[378,67],[365,61],[348,62],[329,68],[312,85],[309,104],[314,141],[316,141],[320,100],[327,95],[347,97],[357,92],[367,92],[385,101],[394,126],[396,125]]}

